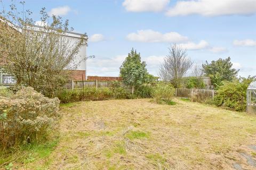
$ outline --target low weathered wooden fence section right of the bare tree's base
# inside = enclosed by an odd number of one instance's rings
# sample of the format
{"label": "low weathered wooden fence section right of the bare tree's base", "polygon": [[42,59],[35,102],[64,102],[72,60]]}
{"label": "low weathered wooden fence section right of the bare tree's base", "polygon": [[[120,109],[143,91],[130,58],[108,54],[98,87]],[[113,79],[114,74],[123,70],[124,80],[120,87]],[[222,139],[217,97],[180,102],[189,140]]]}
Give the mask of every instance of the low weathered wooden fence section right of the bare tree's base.
{"label": "low weathered wooden fence section right of the bare tree's base", "polygon": [[206,90],[206,89],[185,89],[179,88],[175,90],[176,97],[185,97],[189,98],[193,95],[193,93],[200,94],[205,98],[213,98],[214,97],[214,90]]}

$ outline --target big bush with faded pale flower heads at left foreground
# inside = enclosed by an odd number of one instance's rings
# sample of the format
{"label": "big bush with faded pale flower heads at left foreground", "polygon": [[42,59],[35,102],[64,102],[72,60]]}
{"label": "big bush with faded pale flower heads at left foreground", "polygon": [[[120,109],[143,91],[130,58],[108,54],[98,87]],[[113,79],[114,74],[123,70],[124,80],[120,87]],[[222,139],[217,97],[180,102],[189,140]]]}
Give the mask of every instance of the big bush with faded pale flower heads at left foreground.
{"label": "big bush with faded pale flower heads at left foreground", "polygon": [[27,87],[11,97],[0,97],[0,146],[37,142],[54,126],[58,98],[47,98]]}

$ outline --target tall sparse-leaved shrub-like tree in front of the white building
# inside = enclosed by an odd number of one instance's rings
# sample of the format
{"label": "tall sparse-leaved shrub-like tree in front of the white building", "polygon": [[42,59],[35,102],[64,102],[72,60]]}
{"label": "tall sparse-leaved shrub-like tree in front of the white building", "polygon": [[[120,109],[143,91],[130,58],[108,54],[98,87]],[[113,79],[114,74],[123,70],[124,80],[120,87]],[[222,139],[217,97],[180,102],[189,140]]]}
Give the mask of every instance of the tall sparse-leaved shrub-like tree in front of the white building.
{"label": "tall sparse-leaved shrub-like tree in front of the white building", "polygon": [[[24,7],[24,2],[22,2]],[[30,86],[42,94],[52,97],[54,92],[67,82],[68,74],[81,62],[79,49],[86,45],[86,35],[72,43],[65,35],[69,28],[59,16],[41,11],[41,25],[35,27],[31,12],[17,12],[14,4],[9,12],[1,12],[4,19],[0,31],[0,61],[6,73],[12,74],[21,86]],[[4,29],[2,29],[4,28]],[[86,60],[86,58],[84,58]]]}

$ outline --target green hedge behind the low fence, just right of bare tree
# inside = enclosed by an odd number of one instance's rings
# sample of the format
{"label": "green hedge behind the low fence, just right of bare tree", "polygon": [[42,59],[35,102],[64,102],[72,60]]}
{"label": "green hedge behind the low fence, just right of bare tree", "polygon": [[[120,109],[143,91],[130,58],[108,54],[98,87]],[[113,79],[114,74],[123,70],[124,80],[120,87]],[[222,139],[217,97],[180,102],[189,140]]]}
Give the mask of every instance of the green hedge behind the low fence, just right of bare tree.
{"label": "green hedge behind the low fence, just right of bare tree", "polygon": [[187,89],[204,89],[205,84],[201,77],[188,77],[184,79],[184,87]]}

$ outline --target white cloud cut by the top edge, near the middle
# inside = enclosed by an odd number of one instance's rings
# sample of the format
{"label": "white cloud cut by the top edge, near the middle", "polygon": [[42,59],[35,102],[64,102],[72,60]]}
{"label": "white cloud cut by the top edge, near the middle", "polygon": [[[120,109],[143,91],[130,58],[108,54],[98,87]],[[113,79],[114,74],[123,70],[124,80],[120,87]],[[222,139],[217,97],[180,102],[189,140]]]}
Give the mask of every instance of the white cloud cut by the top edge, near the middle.
{"label": "white cloud cut by the top edge, near the middle", "polygon": [[170,0],[125,0],[123,6],[130,12],[160,12]]}

